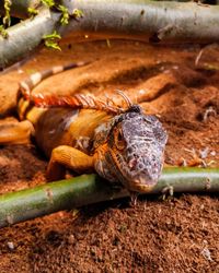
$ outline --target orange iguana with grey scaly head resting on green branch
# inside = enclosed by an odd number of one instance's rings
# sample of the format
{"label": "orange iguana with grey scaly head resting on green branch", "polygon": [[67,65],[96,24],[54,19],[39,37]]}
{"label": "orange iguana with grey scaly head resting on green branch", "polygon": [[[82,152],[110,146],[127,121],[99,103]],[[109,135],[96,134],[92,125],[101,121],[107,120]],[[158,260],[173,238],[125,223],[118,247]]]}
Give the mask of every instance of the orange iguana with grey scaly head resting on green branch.
{"label": "orange iguana with grey scaly head resting on green branch", "polygon": [[[150,191],[161,175],[168,139],[161,122],[138,105],[123,110],[92,96],[31,94],[43,79],[69,68],[36,73],[21,82],[19,115],[33,124],[37,145],[50,158],[49,179],[61,178],[69,167],[78,174],[96,171],[131,191]],[[30,135],[33,129],[24,131]],[[20,131],[18,136],[22,139]],[[15,138],[11,142],[16,143]]]}

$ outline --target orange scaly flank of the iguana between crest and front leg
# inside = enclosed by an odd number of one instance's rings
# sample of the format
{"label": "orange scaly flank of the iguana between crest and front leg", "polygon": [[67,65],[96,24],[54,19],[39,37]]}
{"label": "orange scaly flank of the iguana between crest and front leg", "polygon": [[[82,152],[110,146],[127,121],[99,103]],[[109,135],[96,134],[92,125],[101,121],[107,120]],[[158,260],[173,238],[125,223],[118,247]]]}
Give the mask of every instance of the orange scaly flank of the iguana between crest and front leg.
{"label": "orange scaly flank of the iguana between crest and front leg", "polygon": [[97,110],[47,109],[36,123],[36,141],[49,157],[54,147],[69,145],[88,155],[95,153],[95,129],[113,116]]}

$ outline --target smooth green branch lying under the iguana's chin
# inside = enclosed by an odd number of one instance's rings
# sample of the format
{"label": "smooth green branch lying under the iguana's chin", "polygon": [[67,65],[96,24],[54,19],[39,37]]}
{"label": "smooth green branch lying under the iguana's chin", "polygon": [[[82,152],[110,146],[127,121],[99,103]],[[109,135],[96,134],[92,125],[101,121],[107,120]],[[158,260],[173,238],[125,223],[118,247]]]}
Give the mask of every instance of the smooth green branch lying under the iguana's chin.
{"label": "smooth green branch lying under the iguana's chin", "polygon": [[[166,168],[150,193],[219,192],[219,169]],[[60,210],[78,207],[127,197],[96,175],[46,183],[32,189],[0,195],[0,227],[43,216]]]}

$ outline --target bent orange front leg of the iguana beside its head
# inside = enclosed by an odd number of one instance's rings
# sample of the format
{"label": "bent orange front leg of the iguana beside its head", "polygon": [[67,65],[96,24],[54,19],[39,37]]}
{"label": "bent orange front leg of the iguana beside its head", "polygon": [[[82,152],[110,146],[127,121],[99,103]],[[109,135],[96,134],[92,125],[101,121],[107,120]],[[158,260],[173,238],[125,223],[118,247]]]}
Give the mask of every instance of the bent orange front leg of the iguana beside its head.
{"label": "bent orange front leg of the iguana beside its head", "polygon": [[67,145],[55,147],[47,168],[49,181],[61,179],[65,176],[66,167],[76,173],[92,173],[94,170],[94,156]]}

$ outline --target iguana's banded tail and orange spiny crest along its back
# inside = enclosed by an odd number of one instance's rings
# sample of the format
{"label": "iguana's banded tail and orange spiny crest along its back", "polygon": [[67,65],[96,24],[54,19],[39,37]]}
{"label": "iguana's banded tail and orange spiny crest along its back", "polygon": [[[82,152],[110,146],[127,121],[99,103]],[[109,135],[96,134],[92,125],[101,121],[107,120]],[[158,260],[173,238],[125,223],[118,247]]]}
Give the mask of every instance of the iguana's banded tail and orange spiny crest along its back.
{"label": "iguana's banded tail and orange spiny crest along its back", "polygon": [[[19,116],[20,119],[24,119],[26,111],[30,106],[37,107],[71,107],[71,108],[84,108],[84,109],[96,109],[118,115],[125,111],[124,108],[119,107],[114,103],[113,99],[106,102],[95,98],[92,95],[76,94],[72,96],[56,96],[56,95],[43,95],[32,94],[33,88],[38,85],[43,80],[58,74],[62,71],[79,68],[88,64],[89,62],[76,62],[66,66],[53,67],[51,69],[44,70],[32,74],[26,80],[20,82],[20,99],[19,99]],[[132,103],[122,92],[117,91],[118,95],[123,97],[126,103],[126,108],[130,108]]]}

